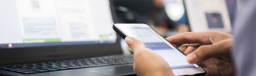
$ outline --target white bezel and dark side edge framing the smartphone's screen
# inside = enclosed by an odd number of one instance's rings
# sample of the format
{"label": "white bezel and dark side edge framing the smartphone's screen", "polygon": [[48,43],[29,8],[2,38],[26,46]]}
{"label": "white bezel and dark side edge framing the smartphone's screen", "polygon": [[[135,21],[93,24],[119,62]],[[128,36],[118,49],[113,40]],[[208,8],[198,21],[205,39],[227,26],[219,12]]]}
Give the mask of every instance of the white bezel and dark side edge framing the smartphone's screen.
{"label": "white bezel and dark side edge framing the smartphone's screen", "polygon": [[[119,27],[118,25],[147,25],[147,24],[114,24],[113,25],[113,29],[115,30],[115,32],[117,32],[120,36],[122,36],[123,39],[125,39],[125,37],[127,36]],[[149,26],[149,25],[147,25]],[[150,26],[149,26],[150,27]],[[152,27],[150,27],[152,30],[154,30]],[[155,30],[154,30],[155,31]],[[156,32],[156,31],[155,31]],[[156,32],[158,35],[160,35],[158,32]],[[160,35],[162,38],[164,38],[162,35]],[[165,38],[164,38],[165,39]],[[166,39],[165,39],[166,40]],[[171,44],[168,40],[166,40],[169,44]],[[173,47],[175,47],[175,49],[178,49],[176,46],[174,46],[173,44],[171,44]],[[180,51],[178,49],[179,52],[181,52],[183,55],[187,56],[186,54],[184,54],[182,51]],[[196,64],[198,65],[198,64]],[[173,69],[173,73],[176,76],[183,76],[183,75],[194,75],[194,76],[201,76],[201,75],[205,75],[206,71],[205,69],[203,69],[203,67],[201,67],[200,65],[198,65],[199,67],[195,67],[195,68],[179,68],[179,69]]]}

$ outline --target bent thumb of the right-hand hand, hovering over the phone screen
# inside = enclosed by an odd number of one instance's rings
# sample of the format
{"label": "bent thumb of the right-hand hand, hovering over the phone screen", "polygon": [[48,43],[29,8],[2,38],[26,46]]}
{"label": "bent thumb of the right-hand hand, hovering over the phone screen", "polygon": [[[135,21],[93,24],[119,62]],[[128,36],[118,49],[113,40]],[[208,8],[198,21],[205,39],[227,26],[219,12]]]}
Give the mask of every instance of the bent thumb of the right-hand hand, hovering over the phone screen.
{"label": "bent thumb of the right-hand hand, hovering over the phone screen", "polygon": [[212,57],[227,57],[232,46],[232,40],[223,40],[212,45],[200,46],[187,55],[188,63],[198,63]]}

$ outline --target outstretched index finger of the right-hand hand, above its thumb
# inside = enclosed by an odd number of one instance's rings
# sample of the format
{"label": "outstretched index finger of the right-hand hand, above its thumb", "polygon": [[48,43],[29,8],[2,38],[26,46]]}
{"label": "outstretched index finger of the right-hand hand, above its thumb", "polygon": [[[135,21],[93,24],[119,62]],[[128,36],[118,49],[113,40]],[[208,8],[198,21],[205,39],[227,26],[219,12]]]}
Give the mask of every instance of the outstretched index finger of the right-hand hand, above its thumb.
{"label": "outstretched index finger of the right-hand hand, above its thumb", "polygon": [[196,33],[196,32],[185,32],[181,33],[178,35],[173,35],[166,40],[170,41],[170,43],[174,45],[179,45],[179,44],[194,44],[194,43],[199,43],[199,44],[209,44],[209,39],[205,37],[204,33]]}

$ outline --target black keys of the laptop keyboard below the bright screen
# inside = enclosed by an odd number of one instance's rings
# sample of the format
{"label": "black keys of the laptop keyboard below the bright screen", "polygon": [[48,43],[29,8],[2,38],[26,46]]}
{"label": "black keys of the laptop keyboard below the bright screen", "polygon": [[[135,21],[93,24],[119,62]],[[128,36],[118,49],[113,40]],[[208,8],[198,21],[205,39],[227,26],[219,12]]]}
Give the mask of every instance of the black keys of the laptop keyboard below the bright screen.
{"label": "black keys of the laptop keyboard below the bright screen", "polygon": [[40,62],[29,64],[0,66],[2,70],[22,74],[43,73],[50,71],[71,70],[78,68],[101,67],[108,65],[121,65],[133,63],[133,55],[110,55],[84,59],[60,60],[53,62]]}

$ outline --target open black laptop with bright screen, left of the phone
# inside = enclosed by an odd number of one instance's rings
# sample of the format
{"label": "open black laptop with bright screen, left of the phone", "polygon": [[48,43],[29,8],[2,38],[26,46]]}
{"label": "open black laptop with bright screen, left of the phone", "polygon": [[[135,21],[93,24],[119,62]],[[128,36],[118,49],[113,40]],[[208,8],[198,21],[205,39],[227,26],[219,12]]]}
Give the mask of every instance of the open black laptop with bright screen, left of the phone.
{"label": "open black laptop with bright screen, left of the phone", "polygon": [[109,0],[1,0],[0,76],[132,75]]}

